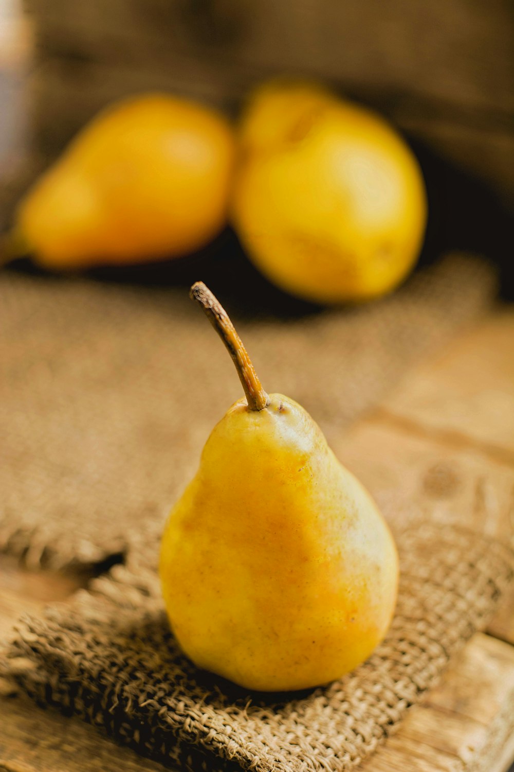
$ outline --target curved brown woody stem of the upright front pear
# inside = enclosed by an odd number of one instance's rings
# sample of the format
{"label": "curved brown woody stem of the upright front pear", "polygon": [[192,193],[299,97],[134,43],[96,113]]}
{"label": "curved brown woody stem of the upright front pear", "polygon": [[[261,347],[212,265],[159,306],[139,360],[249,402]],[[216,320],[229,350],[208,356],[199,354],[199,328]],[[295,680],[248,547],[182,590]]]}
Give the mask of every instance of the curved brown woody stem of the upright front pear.
{"label": "curved brown woody stem of the upright front pear", "polygon": [[247,395],[248,408],[255,411],[267,408],[267,405],[270,404],[270,398],[262,388],[243,341],[237,334],[223,306],[203,282],[193,284],[190,289],[190,298],[200,303],[210,323],[227,347],[233,364],[236,365],[244,393]]}

